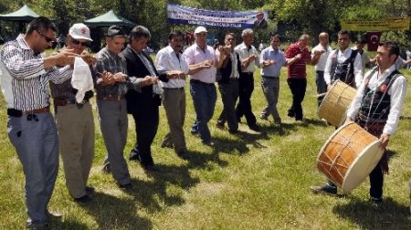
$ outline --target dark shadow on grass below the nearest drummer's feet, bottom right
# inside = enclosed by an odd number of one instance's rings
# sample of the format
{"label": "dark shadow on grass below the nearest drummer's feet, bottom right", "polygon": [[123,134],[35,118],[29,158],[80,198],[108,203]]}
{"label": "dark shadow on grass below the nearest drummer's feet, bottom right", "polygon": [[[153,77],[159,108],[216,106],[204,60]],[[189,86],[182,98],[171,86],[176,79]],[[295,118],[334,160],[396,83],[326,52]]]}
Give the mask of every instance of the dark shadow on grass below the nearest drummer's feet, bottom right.
{"label": "dark shadow on grass below the nearest drummer's feet, bottom right", "polygon": [[378,206],[353,198],[349,204],[336,205],[332,212],[349,219],[361,229],[411,229],[409,207],[389,197]]}

